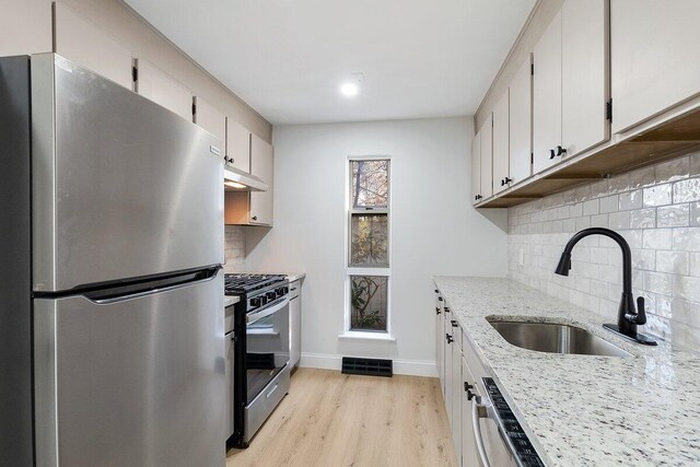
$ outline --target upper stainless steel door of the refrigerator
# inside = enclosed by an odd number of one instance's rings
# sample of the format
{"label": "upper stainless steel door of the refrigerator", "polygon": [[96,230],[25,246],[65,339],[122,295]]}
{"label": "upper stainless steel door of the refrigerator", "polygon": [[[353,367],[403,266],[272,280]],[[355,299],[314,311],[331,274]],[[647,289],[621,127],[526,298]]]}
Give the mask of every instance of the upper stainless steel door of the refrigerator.
{"label": "upper stainless steel door of the refrigerator", "polygon": [[54,54],[32,57],[34,290],[223,264],[223,142]]}

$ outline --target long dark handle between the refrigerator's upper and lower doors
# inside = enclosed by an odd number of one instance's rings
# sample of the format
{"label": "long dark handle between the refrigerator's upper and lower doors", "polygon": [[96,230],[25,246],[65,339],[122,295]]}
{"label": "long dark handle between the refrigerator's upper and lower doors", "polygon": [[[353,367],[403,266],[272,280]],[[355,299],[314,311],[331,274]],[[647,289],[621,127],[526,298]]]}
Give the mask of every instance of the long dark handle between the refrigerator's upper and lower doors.
{"label": "long dark handle between the refrigerator's upper and lower doors", "polygon": [[130,285],[120,285],[95,292],[84,292],[82,295],[96,304],[113,304],[147,295],[153,295],[164,291],[183,289],[185,287],[209,282],[217,277],[220,270],[221,267],[201,269],[166,279],[139,282]]}

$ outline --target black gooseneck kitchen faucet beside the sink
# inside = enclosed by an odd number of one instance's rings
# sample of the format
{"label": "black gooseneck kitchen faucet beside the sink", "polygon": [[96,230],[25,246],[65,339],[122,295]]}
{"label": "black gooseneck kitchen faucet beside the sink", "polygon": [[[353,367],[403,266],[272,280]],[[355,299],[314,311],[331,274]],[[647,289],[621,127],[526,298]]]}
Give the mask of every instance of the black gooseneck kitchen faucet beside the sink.
{"label": "black gooseneck kitchen faucet beside the sink", "polygon": [[612,238],[620,245],[622,249],[622,299],[620,300],[620,307],[617,312],[617,325],[605,324],[605,328],[620,336],[633,340],[646,346],[656,346],[656,341],[646,335],[637,331],[638,325],[646,323],[646,313],[644,313],[644,297],[637,299],[637,306],[639,310],[634,310],[634,296],[632,295],[632,252],[630,246],[619,233],[609,229],[591,227],[584,229],[581,232],[575,233],[561,254],[559,265],[557,265],[556,273],[559,276],[569,276],[569,269],[571,269],[571,250],[579,243],[579,241],[588,235],[604,235]]}

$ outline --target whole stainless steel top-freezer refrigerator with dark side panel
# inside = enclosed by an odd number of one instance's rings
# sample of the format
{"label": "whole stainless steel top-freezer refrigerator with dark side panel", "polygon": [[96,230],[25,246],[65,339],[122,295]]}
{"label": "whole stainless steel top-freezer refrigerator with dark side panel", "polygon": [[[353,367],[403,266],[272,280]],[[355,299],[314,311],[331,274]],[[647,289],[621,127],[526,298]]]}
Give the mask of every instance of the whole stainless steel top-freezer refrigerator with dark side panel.
{"label": "whole stainless steel top-freezer refrigerator with dark side panel", "polygon": [[0,59],[0,465],[224,465],[221,144]]}

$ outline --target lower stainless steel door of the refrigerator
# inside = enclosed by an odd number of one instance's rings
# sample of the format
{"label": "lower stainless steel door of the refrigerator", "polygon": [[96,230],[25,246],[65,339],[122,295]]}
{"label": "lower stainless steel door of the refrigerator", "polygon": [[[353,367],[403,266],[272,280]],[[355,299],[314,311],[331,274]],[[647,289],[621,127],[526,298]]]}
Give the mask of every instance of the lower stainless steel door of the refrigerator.
{"label": "lower stainless steel door of the refrigerator", "polygon": [[35,299],[36,465],[223,466],[222,290]]}

